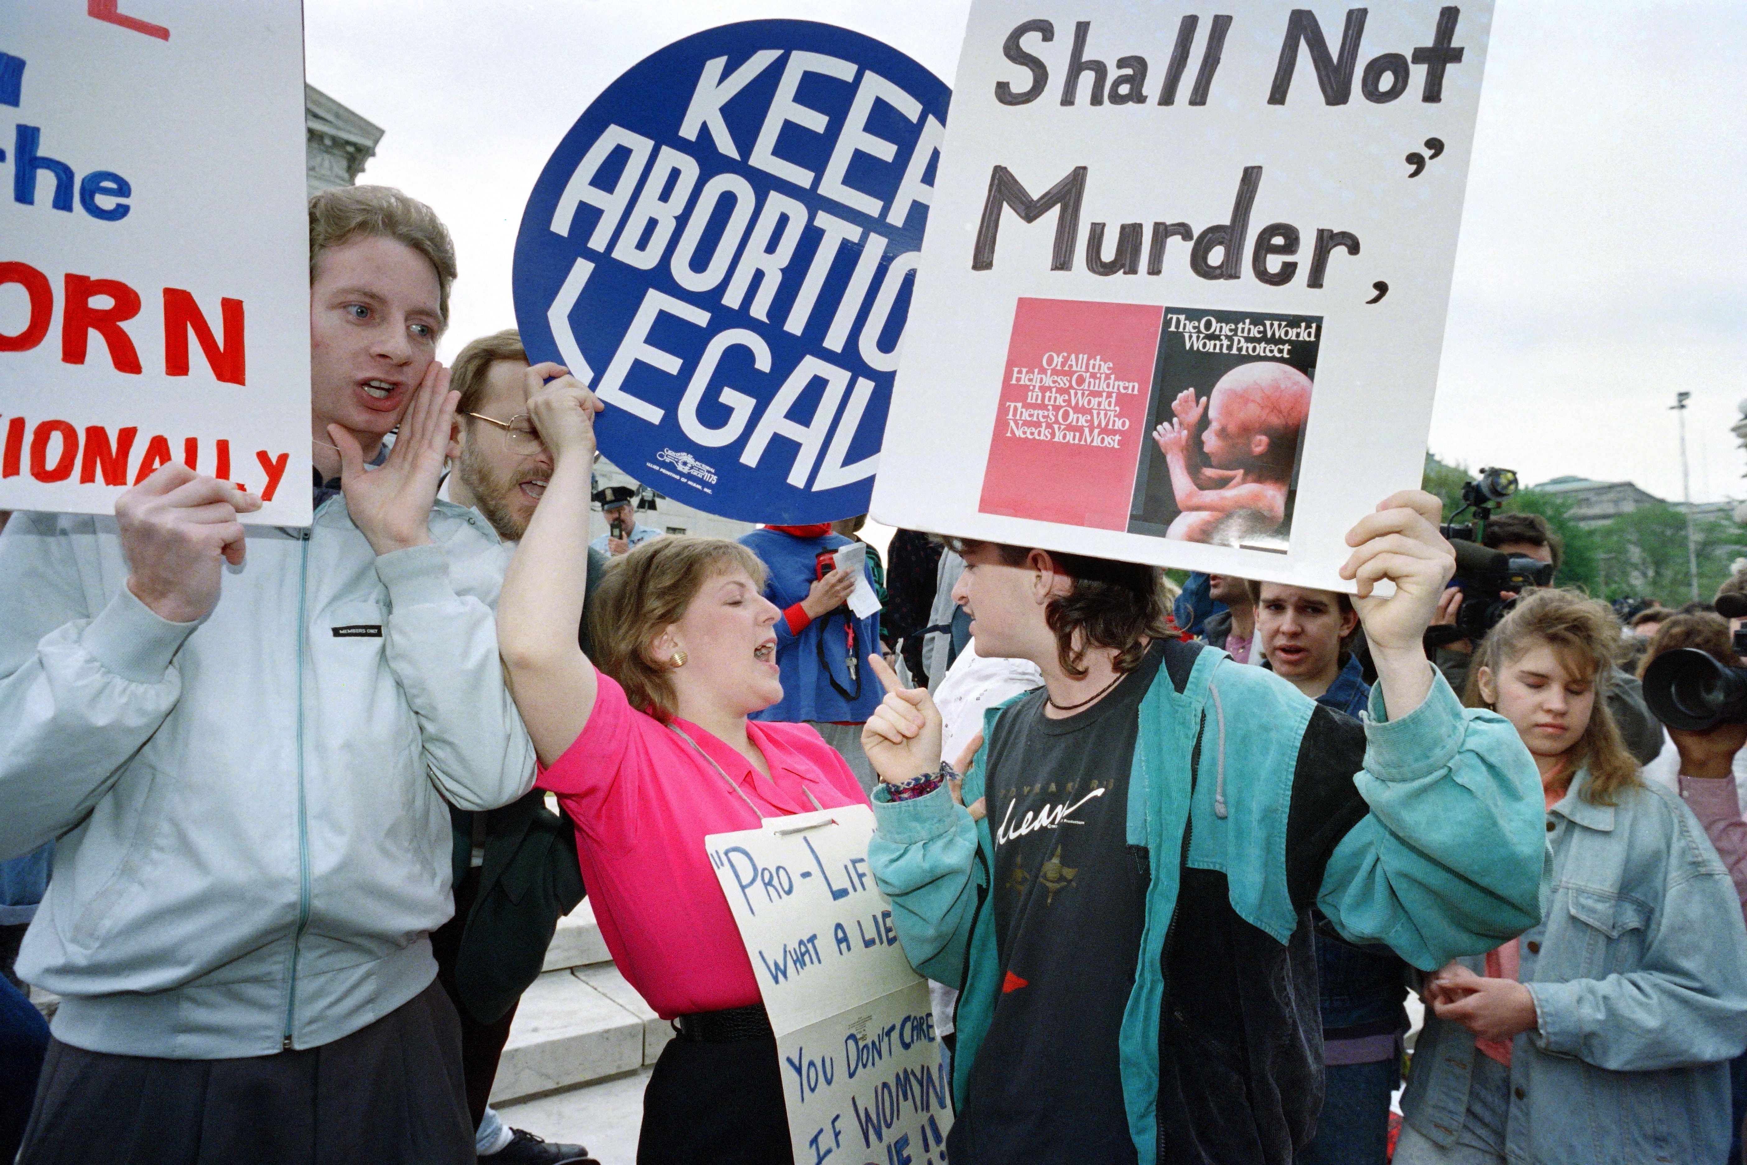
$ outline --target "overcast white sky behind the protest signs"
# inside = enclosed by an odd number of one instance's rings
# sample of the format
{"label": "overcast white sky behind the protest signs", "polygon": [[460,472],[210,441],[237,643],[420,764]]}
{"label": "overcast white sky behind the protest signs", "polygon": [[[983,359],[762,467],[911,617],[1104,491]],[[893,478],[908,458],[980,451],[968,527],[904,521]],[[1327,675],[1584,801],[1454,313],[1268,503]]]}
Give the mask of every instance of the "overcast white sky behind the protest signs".
{"label": "overcast white sky behind the protest signs", "polygon": [[[968,0],[304,0],[309,82],[386,129],[365,182],[456,236],[444,355],[514,323],[510,252],[547,155],[590,100],[713,24],[800,17],[952,80]],[[1218,5],[1216,5],[1218,7]],[[1324,24],[1338,28],[1343,5]],[[1431,449],[1527,482],[1628,479],[1747,496],[1747,21],[1740,0],[1499,0]]]}

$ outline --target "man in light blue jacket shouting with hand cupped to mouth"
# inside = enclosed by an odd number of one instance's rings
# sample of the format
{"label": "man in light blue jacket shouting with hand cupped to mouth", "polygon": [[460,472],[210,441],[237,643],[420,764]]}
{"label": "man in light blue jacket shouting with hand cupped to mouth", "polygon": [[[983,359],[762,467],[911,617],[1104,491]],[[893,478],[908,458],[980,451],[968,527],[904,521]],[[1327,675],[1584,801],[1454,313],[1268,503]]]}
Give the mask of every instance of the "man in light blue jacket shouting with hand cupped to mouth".
{"label": "man in light blue jacket shouting with hand cupped to mouth", "polygon": [[31,1165],[475,1160],[445,802],[515,800],[533,751],[498,538],[433,503],[454,252],[384,187],[309,229],[309,529],[166,465],[0,536],[0,858],[58,840],[17,964],[61,996]]}

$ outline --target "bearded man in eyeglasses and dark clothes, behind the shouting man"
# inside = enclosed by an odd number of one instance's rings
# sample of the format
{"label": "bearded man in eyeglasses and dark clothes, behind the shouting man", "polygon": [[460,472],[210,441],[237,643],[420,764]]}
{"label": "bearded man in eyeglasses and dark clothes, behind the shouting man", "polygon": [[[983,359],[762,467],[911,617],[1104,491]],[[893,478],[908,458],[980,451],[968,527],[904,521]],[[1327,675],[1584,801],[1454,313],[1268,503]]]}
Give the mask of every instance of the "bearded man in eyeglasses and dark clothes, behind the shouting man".
{"label": "bearded man in eyeglasses and dark clothes, behind the shouting man", "polygon": [[[552,454],[528,421],[528,395],[554,363],[529,367],[515,328],[482,335],[454,358],[459,395],[449,430],[451,472],[442,494],[484,515],[503,540],[505,562],[540,505]],[[589,554],[589,582],[606,557]],[[587,650],[583,638],[583,650]],[[432,934],[437,980],[461,1017],[461,1071],[475,1149],[491,1165],[587,1160],[580,1144],[556,1144],[510,1128],[487,1104],[522,992],[540,975],[557,920],[582,901],[577,835],[533,789],[491,812],[451,809],[454,917]],[[507,887],[515,887],[512,898]]]}

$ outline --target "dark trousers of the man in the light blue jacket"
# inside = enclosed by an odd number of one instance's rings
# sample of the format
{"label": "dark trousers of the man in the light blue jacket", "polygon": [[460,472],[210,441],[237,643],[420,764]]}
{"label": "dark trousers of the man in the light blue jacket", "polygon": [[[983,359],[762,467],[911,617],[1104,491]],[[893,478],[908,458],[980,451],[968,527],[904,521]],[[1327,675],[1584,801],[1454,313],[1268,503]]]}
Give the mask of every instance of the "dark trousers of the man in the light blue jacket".
{"label": "dark trousers of the man in the light blue jacket", "polygon": [[321,1048],[161,1060],[54,1039],[19,1165],[473,1165],[461,1032],[432,983]]}

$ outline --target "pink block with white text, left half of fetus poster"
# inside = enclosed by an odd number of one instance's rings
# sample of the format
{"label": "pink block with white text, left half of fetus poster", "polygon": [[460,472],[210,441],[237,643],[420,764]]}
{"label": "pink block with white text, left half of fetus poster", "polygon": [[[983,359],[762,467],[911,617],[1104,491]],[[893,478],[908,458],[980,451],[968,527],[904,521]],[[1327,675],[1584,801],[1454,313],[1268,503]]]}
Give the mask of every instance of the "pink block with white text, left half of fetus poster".
{"label": "pink block with white text, left half of fetus poster", "polygon": [[978,510],[1129,527],[1164,311],[1019,300]]}

